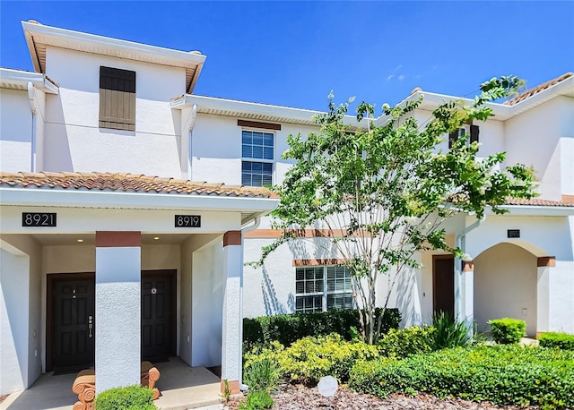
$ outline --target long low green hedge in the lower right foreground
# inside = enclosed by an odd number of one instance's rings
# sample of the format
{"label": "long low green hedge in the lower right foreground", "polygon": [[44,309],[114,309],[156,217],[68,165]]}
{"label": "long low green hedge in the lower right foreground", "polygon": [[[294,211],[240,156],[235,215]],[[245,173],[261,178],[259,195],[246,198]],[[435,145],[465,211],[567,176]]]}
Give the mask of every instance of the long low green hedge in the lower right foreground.
{"label": "long low green hedge in the lower right foreground", "polygon": [[356,363],[349,386],[362,393],[426,392],[500,405],[574,408],[574,352],[519,345],[474,346]]}

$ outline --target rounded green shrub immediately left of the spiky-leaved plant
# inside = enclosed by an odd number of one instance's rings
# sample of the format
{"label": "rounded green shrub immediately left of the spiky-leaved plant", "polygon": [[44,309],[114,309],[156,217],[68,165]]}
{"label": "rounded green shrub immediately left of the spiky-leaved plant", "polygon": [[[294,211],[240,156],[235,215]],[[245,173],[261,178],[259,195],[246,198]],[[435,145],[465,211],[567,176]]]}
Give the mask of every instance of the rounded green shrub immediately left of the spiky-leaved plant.
{"label": "rounded green shrub immediately left of the spiky-leaved plant", "polygon": [[390,329],[378,342],[378,349],[380,354],[392,358],[428,353],[434,348],[434,333],[430,326]]}

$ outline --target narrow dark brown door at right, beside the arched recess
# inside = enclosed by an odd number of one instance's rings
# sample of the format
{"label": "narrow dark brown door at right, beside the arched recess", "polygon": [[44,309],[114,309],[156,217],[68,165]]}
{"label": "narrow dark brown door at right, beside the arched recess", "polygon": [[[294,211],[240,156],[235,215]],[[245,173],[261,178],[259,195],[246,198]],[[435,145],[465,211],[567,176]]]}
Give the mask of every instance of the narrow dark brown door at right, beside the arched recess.
{"label": "narrow dark brown door at right, beside the arched recess", "polygon": [[432,257],[432,310],[455,317],[455,260],[452,255]]}

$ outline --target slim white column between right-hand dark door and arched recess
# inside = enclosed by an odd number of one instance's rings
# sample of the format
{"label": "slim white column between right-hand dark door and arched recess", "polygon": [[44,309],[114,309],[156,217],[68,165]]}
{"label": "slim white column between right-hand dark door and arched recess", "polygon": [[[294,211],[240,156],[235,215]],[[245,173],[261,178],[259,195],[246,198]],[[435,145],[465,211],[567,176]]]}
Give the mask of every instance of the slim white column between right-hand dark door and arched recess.
{"label": "slim white column between right-hand dark door and arched recess", "polygon": [[474,263],[455,259],[455,318],[474,321]]}

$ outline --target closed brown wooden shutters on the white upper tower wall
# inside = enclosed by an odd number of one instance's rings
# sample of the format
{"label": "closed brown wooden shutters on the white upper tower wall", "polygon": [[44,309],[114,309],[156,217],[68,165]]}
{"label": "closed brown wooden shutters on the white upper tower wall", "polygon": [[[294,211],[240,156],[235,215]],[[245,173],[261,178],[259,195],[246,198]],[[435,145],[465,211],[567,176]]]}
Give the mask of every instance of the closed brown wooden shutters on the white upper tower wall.
{"label": "closed brown wooden shutters on the white upper tower wall", "polygon": [[100,128],[135,131],[135,72],[100,66]]}

